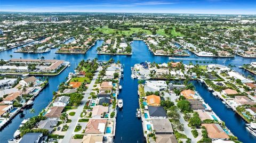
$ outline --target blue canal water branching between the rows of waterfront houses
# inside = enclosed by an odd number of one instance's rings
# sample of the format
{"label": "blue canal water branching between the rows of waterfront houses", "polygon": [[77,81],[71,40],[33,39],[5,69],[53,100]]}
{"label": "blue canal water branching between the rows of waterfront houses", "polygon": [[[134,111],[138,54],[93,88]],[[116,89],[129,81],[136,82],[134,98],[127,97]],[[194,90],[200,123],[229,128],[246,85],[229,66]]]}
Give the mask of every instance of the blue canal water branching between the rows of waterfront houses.
{"label": "blue canal water branching between the rows of waterfront houses", "polygon": [[[72,40],[72,39],[70,39]],[[52,49],[47,53],[38,53],[38,54],[28,54],[28,53],[13,53],[17,48],[10,49],[9,51],[0,52],[0,58],[4,60],[9,60],[10,55],[13,58],[41,58],[42,56],[45,59],[56,58],[58,60],[65,60],[70,62],[71,66],[61,72],[59,75],[54,77],[49,77],[49,85],[43,89],[37,98],[35,99],[34,105],[32,108],[35,109],[35,113],[29,113],[29,109],[23,111],[23,114],[18,114],[14,117],[7,127],[5,127],[0,132],[0,142],[7,142],[8,139],[13,138],[13,133],[18,129],[19,124],[23,119],[38,115],[40,111],[43,110],[49,104],[52,99],[52,92],[57,90],[57,87],[60,82],[65,81],[69,72],[74,72],[75,67],[81,60],[98,58],[100,61],[107,61],[110,58],[114,58],[115,61],[119,60],[124,64],[124,78],[121,79],[121,85],[123,89],[120,91],[120,94],[117,98],[122,98],[124,101],[124,106],[122,111],[118,111],[116,117],[116,134],[115,142],[143,142],[143,130],[141,120],[135,117],[135,111],[139,107],[138,102],[138,93],[137,86],[138,80],[131,79],[131,66],[136,63],[150,61],[156,63],[169,62],[167,56],[154,56],[147,48],[146,44],[143,41],[133,41],[132,46],[132,55],[97,55],[97,47],[101,46],[103,43],[102,40],[98,40],[95,45],[87,51],[86,54],[55,54],[57,49]],[[240,56],[235,56],[234,58],[211,58],[211,57],[197,57],[191,52],[189,57],[177,57],[179,60],[173,61],[182,61],[183,63],[188,64],[190,61],[194,64],[196,61],[198,64],[222,64],[222,65],[236,65],[234,70],[242,73],[244,75],[251,75],[249,72],[246,72],[242,69],[238,69],[238,66],[241,66],[245,63],[251,63],[254,60],[252,58],[242,58]],[[205,61],[205,63],[204,63]],[[200,63],[202,62],[202,63]],[[207,63],[208,62],[208,63]],[[255,77],[255,76],[254,76]],[[210,92],[206,90],[204,85],[197,81],[192,81],[196,86],[196,90],[201,94],[205,99],[205,102],[208,103],[213,111],[220,117],[221,120],[225,121],[227,127],[243,142],[256,142],[256,138],[252,137],[249,132],[245,130],[245,122],[239,117],[234,111],[226,108],[222,104],[220,99],[215,98],[211,95]]]}

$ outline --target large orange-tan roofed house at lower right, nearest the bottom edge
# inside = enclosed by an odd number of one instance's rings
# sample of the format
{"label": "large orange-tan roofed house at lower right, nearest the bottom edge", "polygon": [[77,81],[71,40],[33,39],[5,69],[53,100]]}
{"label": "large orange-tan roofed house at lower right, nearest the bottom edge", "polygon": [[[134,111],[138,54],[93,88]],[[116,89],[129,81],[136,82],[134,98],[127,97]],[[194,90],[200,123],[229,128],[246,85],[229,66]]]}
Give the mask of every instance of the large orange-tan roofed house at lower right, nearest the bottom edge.
{"label": "large orange-tan roofed house at lower right, nearest the bottom edge", "polygon": [[220,127],[219,124],[202,124],[206,128],[208,137],[212,140],[229,139],[228,134]]}

